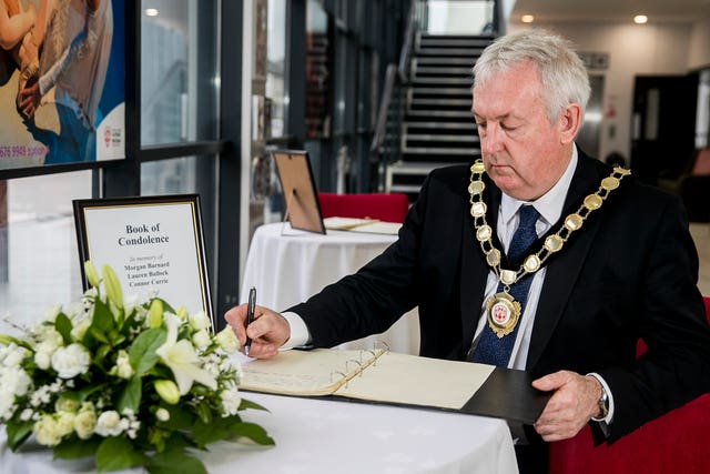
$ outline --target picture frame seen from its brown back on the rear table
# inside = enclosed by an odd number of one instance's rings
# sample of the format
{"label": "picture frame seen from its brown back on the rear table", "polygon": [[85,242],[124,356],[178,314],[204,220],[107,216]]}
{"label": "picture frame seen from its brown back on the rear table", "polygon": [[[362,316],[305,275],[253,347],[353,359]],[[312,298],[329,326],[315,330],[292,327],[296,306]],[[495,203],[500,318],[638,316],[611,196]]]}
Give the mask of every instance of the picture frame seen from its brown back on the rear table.
{"label": "picture frame seen from its brown back on the rear table", "polygon": [[308,153],[302,150],[272,151],[284,195],[284,220],[302,231],[325,233],[321,203],[311,170]]}

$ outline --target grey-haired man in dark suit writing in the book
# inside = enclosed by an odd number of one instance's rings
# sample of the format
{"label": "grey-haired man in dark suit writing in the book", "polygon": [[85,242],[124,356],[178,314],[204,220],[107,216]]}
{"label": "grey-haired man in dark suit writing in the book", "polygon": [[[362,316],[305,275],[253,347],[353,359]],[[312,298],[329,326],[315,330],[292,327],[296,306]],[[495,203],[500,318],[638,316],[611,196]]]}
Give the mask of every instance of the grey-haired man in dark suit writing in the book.
{"label": "grey-haired man in dark suit writing in the book", "polygon": [[[534,426],[548,442],[587,423],[615,441],[708,391],[684,211],[575,145],[589,98],[577,54],[525,31],[487,48],[474,77],[483,163],[435,170],[398,241],[356,274],[284,315],[257,309],[250,355],[379,333],[418,305],[422,355],[524,369],[554,392]],[[519,223],[535,240],[523,250]],[[225,317],[244,341],[245,307]]]}

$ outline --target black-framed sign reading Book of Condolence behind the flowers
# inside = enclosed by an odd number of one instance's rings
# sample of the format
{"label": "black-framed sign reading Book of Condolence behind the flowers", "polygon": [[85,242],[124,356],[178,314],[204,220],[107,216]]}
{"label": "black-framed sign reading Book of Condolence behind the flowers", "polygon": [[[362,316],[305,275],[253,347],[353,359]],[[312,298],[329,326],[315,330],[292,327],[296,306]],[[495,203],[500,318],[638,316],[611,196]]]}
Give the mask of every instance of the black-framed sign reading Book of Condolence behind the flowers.
{"label": "black-framed sign reading Book of Condolence behind the flowers", "polygon": [[165,300],[212,321],[210,283],[197,194],[75,200],[74,222],[83,262],[108,264],[124,294]]}

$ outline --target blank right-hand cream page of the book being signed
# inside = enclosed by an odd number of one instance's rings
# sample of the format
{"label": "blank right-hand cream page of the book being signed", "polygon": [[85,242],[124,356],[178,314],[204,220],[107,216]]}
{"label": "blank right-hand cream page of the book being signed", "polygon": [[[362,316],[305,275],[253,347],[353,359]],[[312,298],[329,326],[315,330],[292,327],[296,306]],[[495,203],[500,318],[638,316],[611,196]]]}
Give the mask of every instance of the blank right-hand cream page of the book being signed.
{"label": "blank right-hand cream page of the book being signed", "polygon": [[405,405],[459,410],[480,389],[493,365],[388,352],[336,395]]}

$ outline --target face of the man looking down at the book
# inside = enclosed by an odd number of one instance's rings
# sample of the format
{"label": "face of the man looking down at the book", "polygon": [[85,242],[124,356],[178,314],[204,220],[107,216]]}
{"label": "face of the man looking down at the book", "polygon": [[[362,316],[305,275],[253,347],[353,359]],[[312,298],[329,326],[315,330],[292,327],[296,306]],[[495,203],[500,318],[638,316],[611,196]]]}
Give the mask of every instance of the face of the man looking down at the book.
{"label": "face of the man looking down at the book", "polygon": [[527,61],[476,84],[474,98],[484,164],[496,185],[523,201],[549,191],[571,158],[570,121],[579,109],[550,123],[537,69]]}

